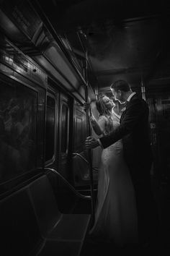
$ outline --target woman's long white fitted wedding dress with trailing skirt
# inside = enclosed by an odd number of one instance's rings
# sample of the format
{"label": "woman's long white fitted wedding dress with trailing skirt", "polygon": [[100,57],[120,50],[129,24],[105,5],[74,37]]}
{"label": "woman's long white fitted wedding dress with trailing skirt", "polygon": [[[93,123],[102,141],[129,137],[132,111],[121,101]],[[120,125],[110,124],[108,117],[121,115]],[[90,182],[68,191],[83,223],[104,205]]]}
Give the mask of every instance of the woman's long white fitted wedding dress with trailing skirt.
{"label": "woman's long white fitted wedding dress with trailing skirt", "polygon": [[[116,116],[112,126],[105,116],[101,119],[106,119],[104,134],[120,125]],[[90,234],[111,239],[119,246],[134,244],[138,242],[137,222],[135,191],[119,140],[102,150],[95,223]]]}

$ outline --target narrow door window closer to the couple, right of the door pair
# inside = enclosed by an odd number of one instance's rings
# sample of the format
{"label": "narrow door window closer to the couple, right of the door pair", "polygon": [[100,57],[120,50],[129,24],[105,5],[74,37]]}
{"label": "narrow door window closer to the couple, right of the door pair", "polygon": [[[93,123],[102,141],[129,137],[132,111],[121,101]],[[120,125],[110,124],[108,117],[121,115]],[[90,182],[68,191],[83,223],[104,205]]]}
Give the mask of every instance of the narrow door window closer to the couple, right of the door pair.
{"label": "narrow door window closer to the couple, right of the door pair", "polygon": [[68,149],[68,106],[63,103],[61,111],[61,153]]}

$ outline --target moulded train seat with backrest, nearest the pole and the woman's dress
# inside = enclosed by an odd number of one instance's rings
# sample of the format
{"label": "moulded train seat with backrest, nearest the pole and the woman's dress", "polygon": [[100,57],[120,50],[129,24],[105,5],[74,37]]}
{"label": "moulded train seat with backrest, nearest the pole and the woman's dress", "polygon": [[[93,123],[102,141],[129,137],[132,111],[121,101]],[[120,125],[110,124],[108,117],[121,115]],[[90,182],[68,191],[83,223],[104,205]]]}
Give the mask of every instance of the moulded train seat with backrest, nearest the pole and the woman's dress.
{"label": "moulded train seat with backrest, nearest the pole and the woman's dress", "polygon": [[79,255],[90,215],[61,213],[46,175],[29,184],[28,192],[45,239],[38,255]]}

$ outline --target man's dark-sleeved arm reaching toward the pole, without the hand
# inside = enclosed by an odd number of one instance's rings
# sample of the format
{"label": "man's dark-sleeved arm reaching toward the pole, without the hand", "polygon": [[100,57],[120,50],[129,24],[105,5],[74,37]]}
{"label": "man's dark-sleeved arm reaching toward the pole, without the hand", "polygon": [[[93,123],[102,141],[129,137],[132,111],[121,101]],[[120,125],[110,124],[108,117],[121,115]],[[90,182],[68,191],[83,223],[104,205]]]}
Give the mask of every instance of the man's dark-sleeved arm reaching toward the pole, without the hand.
{"label": "man's dark-sleeved arm reaching toward the pole, without the hand", "polygon": [[103,148],[109,147],[117,140],[122,139],[125,135],[130,134],[133,129],[135,129],[136,124],[140,121],[140,118],[147,113],[148,106],[145,101],[140,99],[133,100],[132,103],[129,103],[129,106],[126,110],[125,116],[117,129],[111,132],[109,135],[104,136],[99,139],[99,142],[102,144]]}

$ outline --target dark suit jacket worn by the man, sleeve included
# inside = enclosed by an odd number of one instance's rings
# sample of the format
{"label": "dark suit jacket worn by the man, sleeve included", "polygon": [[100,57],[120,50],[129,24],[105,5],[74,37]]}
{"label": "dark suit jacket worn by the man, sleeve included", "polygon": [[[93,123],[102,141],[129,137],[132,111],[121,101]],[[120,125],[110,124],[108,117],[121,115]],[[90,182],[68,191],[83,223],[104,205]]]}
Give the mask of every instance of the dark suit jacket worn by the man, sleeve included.
{"label": "dark suit jacket worn by the man, sleeve included", "polygon": [[134,179],[148,176],[151,168],[148,114],[148,104],[135,94],[122,113],[120,126],[109,135],[100,138],[103,148],[122,139],[125,161]]}

